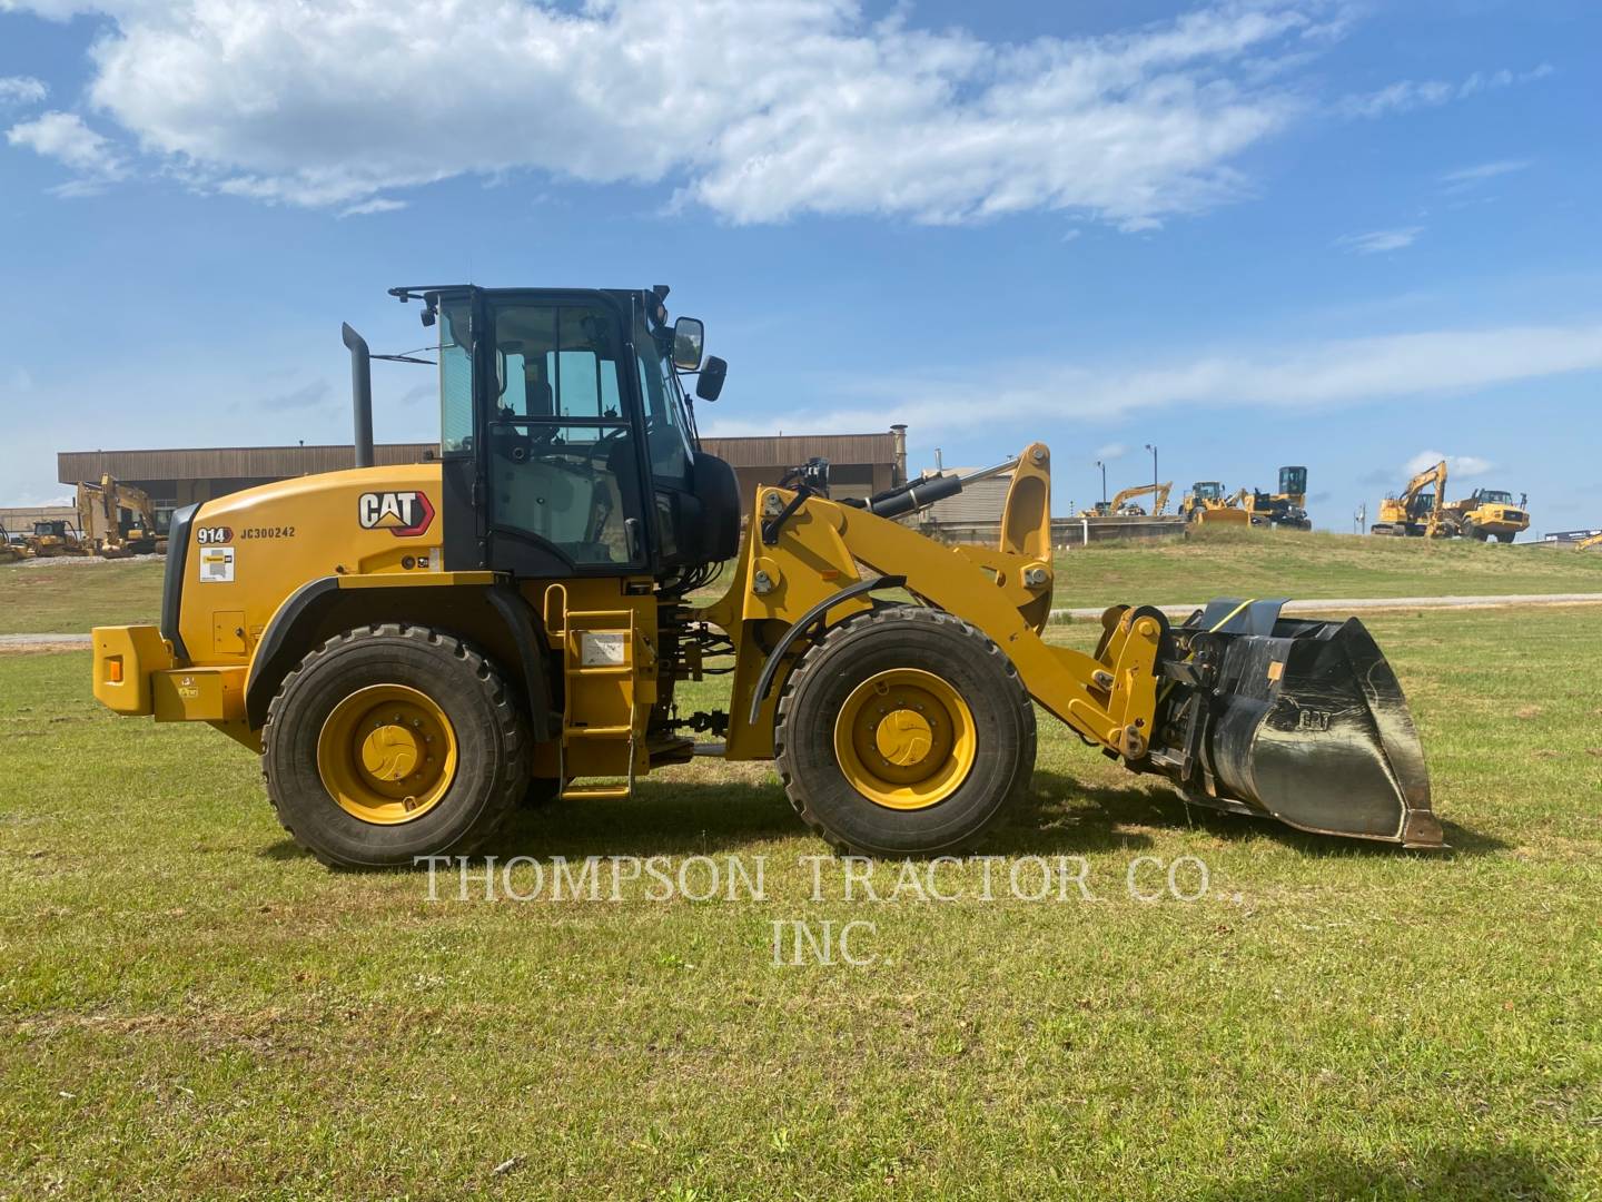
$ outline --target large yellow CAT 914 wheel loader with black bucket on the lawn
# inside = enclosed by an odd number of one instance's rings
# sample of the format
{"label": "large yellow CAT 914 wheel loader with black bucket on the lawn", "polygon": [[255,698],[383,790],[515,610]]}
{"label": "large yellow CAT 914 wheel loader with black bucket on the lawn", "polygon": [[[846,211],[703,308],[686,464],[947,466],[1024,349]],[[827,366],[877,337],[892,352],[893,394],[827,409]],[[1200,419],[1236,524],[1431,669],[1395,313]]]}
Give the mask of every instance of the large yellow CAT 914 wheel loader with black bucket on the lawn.
{"label": "large yellow CAT 914 wheel loader with black bucket on the lawn", "polygon": [[[1011,471],[995,547],[896,521],[972,476],[833,500],[822,462],[758,487],[742,538],[684,388],[714,399],[727,364],[665,287],[392,293],[439,335],[439,460],[372,466],[370,353],[344,327],[357,466],[179,510],[160,625],[93,635],[96,697],[260,752],[327,864],[466,854],[519,800],[626,797],[695,756],[775,761],[836,848],[955,853],[1028,789],[1036,710],[1198,805],[1442,846],[1357,620],[1120,604],[1094,654],[1043,638],[1045,446],[979,473]],[[711,675],[727,708],[681,713]]]}

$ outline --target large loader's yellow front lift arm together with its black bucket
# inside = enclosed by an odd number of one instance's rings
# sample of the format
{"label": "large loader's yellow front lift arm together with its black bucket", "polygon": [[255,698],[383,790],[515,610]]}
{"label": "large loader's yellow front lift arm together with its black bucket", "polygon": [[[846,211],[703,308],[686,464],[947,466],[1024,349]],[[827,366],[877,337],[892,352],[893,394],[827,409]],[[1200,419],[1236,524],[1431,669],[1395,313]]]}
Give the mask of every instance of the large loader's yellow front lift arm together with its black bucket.
{"label": "large loader's yellow front lift arm together with its black bucket", "polygon": [[[918,606],[1001,649],[1027,696],[1085,742],[1168,777],[1192,801],[1440,846],[1400,688],[1360,623],[1294,622],[1280,603],[1230,601],[1171,628],[1158,609],[1113,606],[1094,654],[1054,646],[1043,638],[1048,498],[1040,444],[1019,458],[993,548],[945,547],[867,506],[763,489],[758,513],[785,514],[783,526],[771,543],[747,540],[729,591],[698,614],[735,646],[726,755],[783,758],[775,726],[787,678],[807,676],[831,631],[883,615],[868,593],[899,580]],[[783,636],[764,654],[764,631],[777,628]],[[1322,771],[1304,780],[1296,764]]]}

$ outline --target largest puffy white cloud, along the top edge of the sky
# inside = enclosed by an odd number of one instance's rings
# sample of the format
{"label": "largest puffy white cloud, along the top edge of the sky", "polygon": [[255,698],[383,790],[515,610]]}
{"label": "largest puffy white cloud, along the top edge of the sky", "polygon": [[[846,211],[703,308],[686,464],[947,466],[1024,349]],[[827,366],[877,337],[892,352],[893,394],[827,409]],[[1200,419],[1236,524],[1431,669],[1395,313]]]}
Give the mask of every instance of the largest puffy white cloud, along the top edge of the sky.
{"label": "largest puffy white cloud, along the top edge of the sky", "polygon": [[1264,66],[1336,0],[1214,0],[1129,32],[985,42],[857,0],[6,0],[111,18],[90,99],[203,188],[354,207],[532,168],[670,183],[732,221],[1069,210],[1142,229],[1248,191],[1296,115]]}

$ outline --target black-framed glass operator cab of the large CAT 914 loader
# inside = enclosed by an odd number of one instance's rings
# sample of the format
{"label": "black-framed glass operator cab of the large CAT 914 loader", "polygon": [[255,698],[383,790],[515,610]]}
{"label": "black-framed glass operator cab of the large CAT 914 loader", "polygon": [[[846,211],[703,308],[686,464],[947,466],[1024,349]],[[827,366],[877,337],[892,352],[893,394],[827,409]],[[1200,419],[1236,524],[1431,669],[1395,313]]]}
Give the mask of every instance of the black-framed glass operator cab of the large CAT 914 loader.
{"label": "black-framed glass operator cab of the large CAT 914 loader", "polygon": [[439,332],[444,566],[671,577],[739,551],[734,471],[700,450],[705,329],[668,288],[391,288]]}

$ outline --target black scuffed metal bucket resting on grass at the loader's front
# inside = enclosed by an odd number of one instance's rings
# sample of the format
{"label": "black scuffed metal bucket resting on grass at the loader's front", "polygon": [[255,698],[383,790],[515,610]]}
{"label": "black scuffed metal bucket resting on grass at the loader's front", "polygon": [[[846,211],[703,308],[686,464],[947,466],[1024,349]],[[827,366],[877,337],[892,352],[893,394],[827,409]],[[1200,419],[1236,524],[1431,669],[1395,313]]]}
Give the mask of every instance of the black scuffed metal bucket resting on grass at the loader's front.
{"label": "black scuffed metal bucket resting on grass at the loader's front", "polygon": [[1269,630],[1203,619],[1192,639],[1211,676],[1205,792],[1302,830],[1445,846],[1402,686],[1363,623],[1277,619]]}

